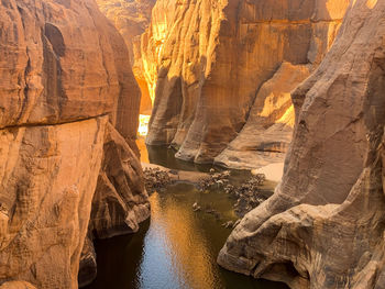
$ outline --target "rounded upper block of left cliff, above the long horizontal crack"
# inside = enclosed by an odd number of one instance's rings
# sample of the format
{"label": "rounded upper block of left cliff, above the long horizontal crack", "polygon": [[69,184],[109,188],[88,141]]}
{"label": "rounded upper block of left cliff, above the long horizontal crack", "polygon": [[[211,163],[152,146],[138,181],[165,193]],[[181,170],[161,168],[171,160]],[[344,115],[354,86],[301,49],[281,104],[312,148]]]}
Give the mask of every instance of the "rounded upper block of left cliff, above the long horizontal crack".
{"label": "rounded upper block of left cliff, above the long horizontal crack", "polygon": [[118,111],[112,122],[124,137],[135,136],[140,95],[125,67],[127,47],[92,0],[12,0],[2,7],[0,127]]}

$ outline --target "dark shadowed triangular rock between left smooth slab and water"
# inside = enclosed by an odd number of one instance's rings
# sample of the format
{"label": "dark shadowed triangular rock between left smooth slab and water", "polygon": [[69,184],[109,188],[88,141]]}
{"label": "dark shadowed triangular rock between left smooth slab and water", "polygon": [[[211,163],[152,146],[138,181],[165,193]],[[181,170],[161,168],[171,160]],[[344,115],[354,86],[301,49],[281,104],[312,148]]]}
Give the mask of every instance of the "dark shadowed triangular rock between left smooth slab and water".
{"label": "dark shadowed triangular rock between left smooth slab and water", "polygon": [[108,125],[89,230],[99,238],[136,232],[148,216],[141,164],[124,138]]}

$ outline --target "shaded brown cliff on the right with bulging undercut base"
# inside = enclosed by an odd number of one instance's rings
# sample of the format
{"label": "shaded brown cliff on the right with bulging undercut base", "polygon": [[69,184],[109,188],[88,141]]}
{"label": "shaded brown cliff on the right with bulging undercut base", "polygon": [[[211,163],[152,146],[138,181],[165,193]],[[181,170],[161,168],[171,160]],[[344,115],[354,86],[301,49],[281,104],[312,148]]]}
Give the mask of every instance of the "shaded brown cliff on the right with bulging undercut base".
{"label": "shaded brown cliff on the right with bulging undercut base", "polygon": [[385,1],[352,1],[293,93],[284,178],[232,232],[220,265],[296,289],[385,287],[384,36]]}

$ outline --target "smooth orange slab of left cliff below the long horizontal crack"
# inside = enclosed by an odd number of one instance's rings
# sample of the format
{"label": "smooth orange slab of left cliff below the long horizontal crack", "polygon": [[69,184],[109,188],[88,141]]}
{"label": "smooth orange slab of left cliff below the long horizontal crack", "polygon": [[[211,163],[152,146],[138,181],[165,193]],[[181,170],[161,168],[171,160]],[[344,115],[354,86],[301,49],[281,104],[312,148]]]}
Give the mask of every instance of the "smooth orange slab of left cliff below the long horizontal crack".
{"label": "smooth orange slab of left cliff below the long horizontal crack", "polygon": [[107,118],[0,132],[0,281],[77,288]]}

